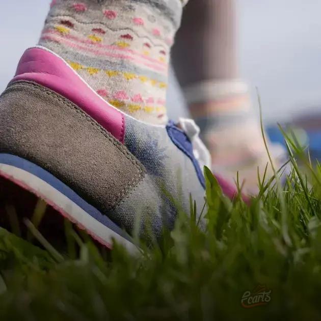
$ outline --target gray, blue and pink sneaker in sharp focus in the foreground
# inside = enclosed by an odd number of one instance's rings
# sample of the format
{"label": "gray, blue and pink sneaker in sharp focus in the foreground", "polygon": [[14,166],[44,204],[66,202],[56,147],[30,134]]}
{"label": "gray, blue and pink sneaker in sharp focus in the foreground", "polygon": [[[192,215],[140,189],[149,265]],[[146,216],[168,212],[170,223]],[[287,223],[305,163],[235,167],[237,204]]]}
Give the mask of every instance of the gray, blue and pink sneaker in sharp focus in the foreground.
{"label": "gray, blue and pink sneaker in sharp focus in the foreground", "polygon": [[134,251],[137,220],[142,237],[172,229],[177,204],[189,212],[190,195],[201,212],[205,182],[194,138],[173,122],[149,125],[123,114],[42,47],[25,51],[0,97],[0,175],[108,247],[114,238]]}

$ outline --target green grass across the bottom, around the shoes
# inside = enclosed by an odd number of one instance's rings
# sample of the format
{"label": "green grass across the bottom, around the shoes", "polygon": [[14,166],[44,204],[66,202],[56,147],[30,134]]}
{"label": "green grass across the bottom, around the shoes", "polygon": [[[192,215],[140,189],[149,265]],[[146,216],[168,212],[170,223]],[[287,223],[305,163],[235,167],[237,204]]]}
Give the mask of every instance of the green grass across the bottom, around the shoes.
{"label": "green grass across the bottom, around the shoes", "polygon": [[[0,230],[0,319],[321,319],[321,167],[288,144],[303,165],[291,154],[285,185],[260,178],[248,206],[226,199],[205,169],[206,229],[191,206],[140,256],[117,245],[98,251],[68,224],[66,253]],[[244,308],[244,292],[258,285],[272,290],[271,301]]]}

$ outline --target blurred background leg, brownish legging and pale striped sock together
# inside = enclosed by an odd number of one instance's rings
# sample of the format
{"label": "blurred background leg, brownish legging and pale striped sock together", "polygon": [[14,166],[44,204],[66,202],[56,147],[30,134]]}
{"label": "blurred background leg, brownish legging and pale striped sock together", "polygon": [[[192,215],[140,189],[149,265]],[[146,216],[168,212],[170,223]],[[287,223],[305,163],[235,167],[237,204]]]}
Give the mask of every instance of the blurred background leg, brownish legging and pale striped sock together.
{"label": "blurred background leg, brownish legging and pale striped sock together", "polygon": [[[173,48],[173,65],[212,156],[212,169],[246,190],[269,162],[248,88],[238,74],[234,0],[190,0]],[[272,174],[271,167],[269,173]]]}

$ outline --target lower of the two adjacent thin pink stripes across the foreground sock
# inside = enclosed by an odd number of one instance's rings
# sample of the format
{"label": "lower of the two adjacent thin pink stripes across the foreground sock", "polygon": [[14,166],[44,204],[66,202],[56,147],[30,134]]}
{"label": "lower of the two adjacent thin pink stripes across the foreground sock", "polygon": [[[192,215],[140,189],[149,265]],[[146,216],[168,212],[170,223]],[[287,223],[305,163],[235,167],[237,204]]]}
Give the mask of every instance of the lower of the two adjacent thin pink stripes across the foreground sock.
{"label": "lower of the two adjacent thin pink stripes across the foreground sock", "polygon": [[68,41],[66,40],[65,38],[63,37],[58,37],[58,36],[55,36],[55,35],[47,35],[47,36],[42,36],[41,37],[42,40],[50,40],[50,41],[57,41],[57,42],[60,42],[60,43],[64,43],[66,45],[68,45],[69,47],[71,48],[76,48],[76,49],[79,49],[79,50],[84,50],[84,51],[87,51],[87,52],[92,52],[94,53],[95,55],[98,55],[98,56],[105,56],[105,57],[111,57],[111,58],[117,58],[117,59],[125,59],[125,60],[130,60],[130,61],[134,61],[136,63],[140,63],[154,71],[157,71],[159,73],[163,73],[164,75],[167,76],[167,68],[161,68],[161,67],[158,67],[158,66],[155,66],[153,64],[148,64],[148,63],[145,63],[145,62],[142,62],[140,59],[137,59],[135,57],[131,57],[131,56],[128,56],[128,55],[122,55],[121,53],[112,53],[112,52],[109,52],[109,51],[101,51],[101,50],[97,50],[97,49],[92,49],[92,48],[89,48],[89,47],[85,47],[85,46],[81,46],[81,45],[77,45],[71,41]]}

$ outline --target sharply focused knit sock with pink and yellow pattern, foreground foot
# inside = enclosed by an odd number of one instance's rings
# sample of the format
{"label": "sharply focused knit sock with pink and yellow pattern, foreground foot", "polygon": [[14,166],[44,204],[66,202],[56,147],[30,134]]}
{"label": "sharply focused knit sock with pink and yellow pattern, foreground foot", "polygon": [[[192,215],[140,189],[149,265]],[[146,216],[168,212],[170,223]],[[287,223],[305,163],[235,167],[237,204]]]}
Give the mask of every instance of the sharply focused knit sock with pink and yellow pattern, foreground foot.
{"label": "sharply focused knit sock with pink and yellow pattern, foreground foot", "polygon": [[105,100],[167,122],[170,49],[185,0],[53,0],[39,45],[64,58]]}

